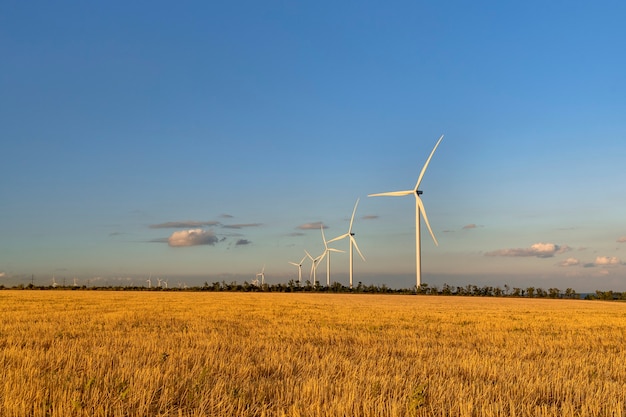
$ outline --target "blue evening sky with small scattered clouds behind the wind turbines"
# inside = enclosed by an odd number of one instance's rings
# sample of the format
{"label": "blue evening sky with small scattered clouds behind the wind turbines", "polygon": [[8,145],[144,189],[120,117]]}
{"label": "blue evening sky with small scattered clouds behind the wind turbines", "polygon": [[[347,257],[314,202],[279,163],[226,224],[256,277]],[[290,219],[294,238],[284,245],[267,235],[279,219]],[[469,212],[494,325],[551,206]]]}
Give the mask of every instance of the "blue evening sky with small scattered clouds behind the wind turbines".
{"label": "blue evening sky with small scattered clouds behind the wind turbines", "polygon": [[[626,291],[626,5],[0,3],[0,284]],[[347,251],[348,242],[331,246]],[[347,285],[333,253],[331,281]],[[308,279],[310,263],[303,265]],[[326,280],[326,265],[317,279]]]}

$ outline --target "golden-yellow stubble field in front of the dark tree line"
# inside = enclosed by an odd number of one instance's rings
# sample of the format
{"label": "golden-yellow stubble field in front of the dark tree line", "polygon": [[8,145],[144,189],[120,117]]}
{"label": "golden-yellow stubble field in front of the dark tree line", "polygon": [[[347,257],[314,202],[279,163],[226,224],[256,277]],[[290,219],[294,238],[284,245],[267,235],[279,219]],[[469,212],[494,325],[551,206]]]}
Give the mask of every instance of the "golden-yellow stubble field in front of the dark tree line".
{"label": "golden-yellow stubble field in front of the dark tree line", "polygon": [[626,304],[0,291],[2,416],[626,416]]}

